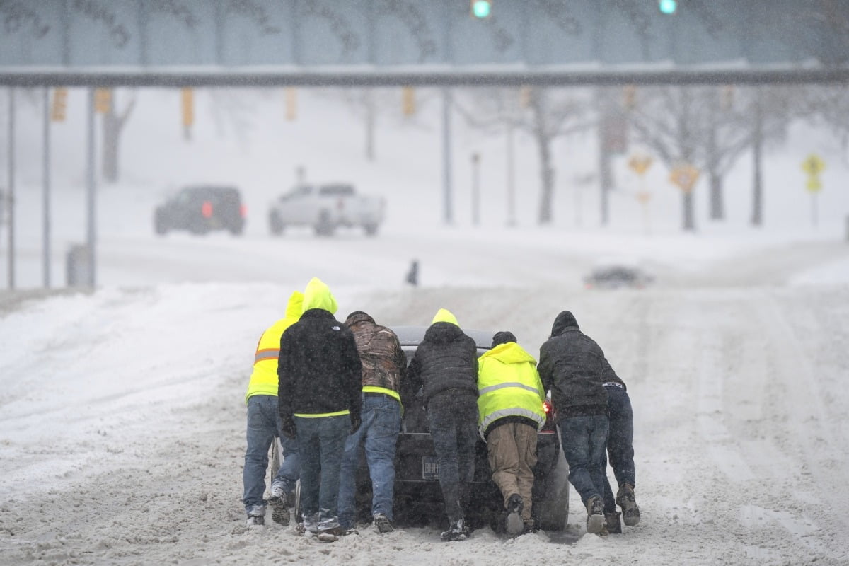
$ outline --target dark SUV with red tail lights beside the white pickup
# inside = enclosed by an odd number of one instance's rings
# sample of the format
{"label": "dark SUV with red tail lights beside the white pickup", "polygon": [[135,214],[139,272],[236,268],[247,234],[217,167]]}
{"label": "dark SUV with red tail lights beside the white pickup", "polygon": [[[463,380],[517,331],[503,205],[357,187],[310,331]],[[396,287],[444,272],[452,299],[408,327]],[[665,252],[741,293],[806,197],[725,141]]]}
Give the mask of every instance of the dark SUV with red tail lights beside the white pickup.
{"label": "dark SUV with red tail lights beside the white pickup", "polygon": [[205,234],[228,230],[239,235],[245,229],[245,205],[239,189],[216,185],[184,187],[156,207],[154,228],[163,235],[169,230]]}

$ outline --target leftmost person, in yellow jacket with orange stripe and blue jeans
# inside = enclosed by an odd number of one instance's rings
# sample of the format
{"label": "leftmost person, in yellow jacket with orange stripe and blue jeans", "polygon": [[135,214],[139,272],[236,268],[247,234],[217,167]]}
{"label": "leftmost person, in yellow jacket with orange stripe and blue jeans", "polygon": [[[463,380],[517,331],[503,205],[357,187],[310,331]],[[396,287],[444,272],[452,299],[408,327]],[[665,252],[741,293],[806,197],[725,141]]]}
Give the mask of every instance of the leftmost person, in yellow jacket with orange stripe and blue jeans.
{"label": "leftmost person, in yellow jacket with orange stripe and blue jeans", "polygon": [[282,433],[278,412],[277,365],[280,337],[284,330],[301,318],[304,295],[291,294],[286,315],[262,333],[254,354],[254,371],[250,374],[245,404],[248,406],[247,450],[242,481],[245,485],[245,512],[248,524],[265,523],[265,474],[268,468],[268,448],[274,437],[283,445],[283,462],[271,485],[272,518],[279,524],[289,524],[289,507],[295,505],[295,483],[301,474],[298,445]]}

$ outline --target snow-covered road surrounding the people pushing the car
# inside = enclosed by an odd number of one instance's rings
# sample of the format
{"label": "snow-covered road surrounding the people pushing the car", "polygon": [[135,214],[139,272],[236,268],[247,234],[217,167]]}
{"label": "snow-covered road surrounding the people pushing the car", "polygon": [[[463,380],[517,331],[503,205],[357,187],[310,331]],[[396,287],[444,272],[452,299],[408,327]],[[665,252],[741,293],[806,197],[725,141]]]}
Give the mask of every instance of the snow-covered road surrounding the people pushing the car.
{"label": "snow-covered road surrounding the people pushing the car", "polygon": [[[849,247],[691,244],[647,260],[654,287],[610,292],[580,284],[599,238],[104,244],[104,289],[0,301],[0,563],[845,564]],[[413,256],[424,286],[402,288]],[[222,270],[222,258],[243,263]],[[154,281],[164,266],[172,283]],[[812,284],[819,266],[843,281]],[[312,275],[335,290],[340,317],[427,323],[444,306],[531,352],[573,311],[629,386],[642,522],[576,542],[482,530],[445,544],[434,530],[366,528],[328,545],[270,522],[247,530],[253,348]],[[220,283],[190,283],[210,279]]]}

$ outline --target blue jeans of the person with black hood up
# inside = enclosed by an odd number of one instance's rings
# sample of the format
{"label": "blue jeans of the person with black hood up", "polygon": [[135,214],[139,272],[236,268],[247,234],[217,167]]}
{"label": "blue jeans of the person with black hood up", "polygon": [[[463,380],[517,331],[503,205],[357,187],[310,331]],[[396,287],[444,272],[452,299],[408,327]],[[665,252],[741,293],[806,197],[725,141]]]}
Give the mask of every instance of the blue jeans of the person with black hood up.
{"label": "blue jeans of the person with black hood up", "polygon": [[569,482],[587,507],[591,497],[604,496],[601,462],[607,446],[607,416],[565,417],[558,425],[563,455],[569,463]]}

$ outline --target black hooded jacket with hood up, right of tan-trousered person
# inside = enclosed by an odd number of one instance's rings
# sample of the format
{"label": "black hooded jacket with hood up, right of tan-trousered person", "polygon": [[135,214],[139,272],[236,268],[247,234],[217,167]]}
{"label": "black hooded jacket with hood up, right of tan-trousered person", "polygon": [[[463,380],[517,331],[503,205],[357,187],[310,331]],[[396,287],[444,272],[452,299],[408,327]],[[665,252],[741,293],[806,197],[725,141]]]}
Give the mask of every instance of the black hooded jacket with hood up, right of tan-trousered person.
{"label": "black hooded jacket with hood up, right of tan-trousered person", "polygon": [[570,311],[554,319],[551,338],[539,349],[537,369],[543,387],[551,389],[559,418],[607,414],[604,352],[581,332]]}

